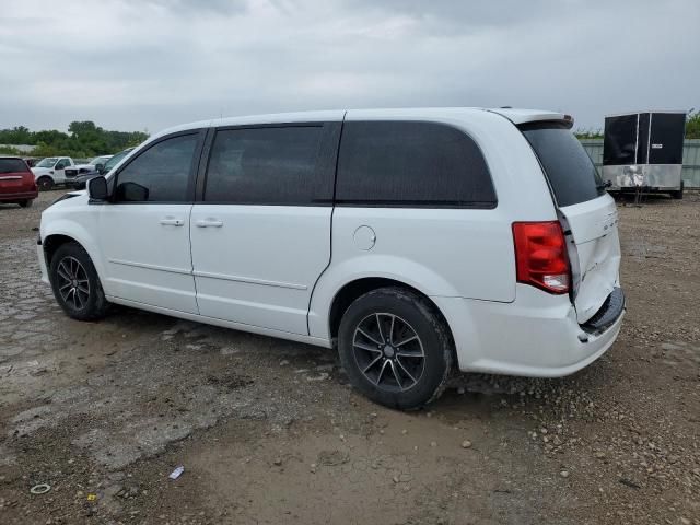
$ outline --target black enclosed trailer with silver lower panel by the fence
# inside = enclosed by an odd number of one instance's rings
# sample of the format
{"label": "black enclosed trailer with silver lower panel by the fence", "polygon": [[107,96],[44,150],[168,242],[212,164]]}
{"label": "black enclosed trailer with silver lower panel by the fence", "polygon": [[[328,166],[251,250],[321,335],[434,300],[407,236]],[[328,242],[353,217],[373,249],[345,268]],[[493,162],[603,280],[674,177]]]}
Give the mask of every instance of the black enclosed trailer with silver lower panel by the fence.
{"label": "black enclosed trailer with silver lower panel by the fence", "polygon": [[668,192],[682,198],[685,112],[605,117],[603,179],[611,191]]}

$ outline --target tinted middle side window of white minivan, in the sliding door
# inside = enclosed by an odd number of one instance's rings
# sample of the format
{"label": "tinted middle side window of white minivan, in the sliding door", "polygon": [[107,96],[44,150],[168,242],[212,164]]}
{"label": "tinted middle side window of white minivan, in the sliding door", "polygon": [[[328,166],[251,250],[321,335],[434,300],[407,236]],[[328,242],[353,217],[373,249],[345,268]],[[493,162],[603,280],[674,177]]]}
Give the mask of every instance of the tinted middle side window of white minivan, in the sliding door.
{"label": "tinted middle side window of white minivan, in the sliding door", "polygon": [[209,156],[205,201],[305,205],[328,200],[332,180],[318,166],[323,130],[323,125],[219,130]]}

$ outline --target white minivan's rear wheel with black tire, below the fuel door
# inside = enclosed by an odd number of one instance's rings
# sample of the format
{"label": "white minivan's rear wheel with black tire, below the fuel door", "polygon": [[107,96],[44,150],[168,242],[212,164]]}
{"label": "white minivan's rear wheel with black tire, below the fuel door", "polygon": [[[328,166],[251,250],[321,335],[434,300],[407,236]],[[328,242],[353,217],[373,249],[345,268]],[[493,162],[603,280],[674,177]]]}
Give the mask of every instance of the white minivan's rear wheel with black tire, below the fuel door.
{"label": "white minivan's rear wheel with black tire, below the fuel door", "polygon": [[[411,340],[411,332],[418,339]],[[444,320],[424,298],[402,288],[381,288],[348,307],[340,320],[338,351],[358,390],[381,405],[411,410],[442,395],[454,343]]]}

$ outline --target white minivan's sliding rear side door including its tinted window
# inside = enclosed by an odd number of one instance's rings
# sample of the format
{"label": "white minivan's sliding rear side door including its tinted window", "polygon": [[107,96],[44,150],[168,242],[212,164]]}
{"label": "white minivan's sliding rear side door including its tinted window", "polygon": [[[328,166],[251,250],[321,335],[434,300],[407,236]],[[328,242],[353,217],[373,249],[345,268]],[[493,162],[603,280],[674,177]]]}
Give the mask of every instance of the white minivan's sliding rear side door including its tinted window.
{"label": "white minivan's sliding rear side door including its tinted window", "polygon": [[191,214],[201,315],[307,334],[330,260],[339,122],[220,129]]}

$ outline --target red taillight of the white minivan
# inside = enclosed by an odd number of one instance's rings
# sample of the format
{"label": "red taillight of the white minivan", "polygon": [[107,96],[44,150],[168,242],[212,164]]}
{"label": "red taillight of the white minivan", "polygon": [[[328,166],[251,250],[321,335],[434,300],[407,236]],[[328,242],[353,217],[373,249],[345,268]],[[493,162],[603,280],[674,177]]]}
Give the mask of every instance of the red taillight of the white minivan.
{"label": "red taillight of the white minivan", "polygon": [[564,232],[558,221],[514,222],[517,282],[550,293],[569,292],[569,258]]}

